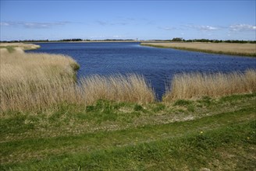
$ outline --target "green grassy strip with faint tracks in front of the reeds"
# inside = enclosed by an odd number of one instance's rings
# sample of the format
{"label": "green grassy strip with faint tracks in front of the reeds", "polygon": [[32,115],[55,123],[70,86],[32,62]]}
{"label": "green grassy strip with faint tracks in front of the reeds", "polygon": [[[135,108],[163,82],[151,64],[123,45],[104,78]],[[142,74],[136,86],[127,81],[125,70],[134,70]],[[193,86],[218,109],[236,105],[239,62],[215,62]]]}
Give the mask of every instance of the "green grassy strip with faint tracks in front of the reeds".
{"label": "green grassy strip with faint tracks in front of the reeds", "polygon": [[1,170],[254,170],[256,94],[6,112]]}

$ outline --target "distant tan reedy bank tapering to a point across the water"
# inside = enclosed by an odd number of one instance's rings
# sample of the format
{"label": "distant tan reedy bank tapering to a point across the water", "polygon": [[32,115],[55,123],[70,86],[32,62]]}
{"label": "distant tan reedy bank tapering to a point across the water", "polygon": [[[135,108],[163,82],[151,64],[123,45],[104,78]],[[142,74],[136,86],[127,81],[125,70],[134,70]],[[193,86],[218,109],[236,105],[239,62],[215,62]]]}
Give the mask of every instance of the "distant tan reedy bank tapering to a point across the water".
{"label": "distant tan reedy bank tapering to a point across the water", "polygon": [[141,43],[149,47],[173,48],[186,51],[201,51],[213,54],[232,54],[256,57],[256,44],[228,44],[228,43]]}

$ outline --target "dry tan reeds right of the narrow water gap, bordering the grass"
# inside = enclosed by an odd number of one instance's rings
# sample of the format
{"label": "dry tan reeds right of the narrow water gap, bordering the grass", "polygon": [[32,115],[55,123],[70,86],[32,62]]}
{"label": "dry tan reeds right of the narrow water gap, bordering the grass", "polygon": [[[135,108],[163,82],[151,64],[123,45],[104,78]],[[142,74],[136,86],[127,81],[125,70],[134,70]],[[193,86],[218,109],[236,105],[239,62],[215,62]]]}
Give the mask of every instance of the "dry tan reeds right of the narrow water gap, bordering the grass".
{"label": "dry tan reeds right of the narrow water gap, bordering the grass", "polygon": [[256,92],[256,71],[253,69],[248,69],[245,73],[232,72],[229,74],[183,73],[173,77],[163,101],[251,92]]}

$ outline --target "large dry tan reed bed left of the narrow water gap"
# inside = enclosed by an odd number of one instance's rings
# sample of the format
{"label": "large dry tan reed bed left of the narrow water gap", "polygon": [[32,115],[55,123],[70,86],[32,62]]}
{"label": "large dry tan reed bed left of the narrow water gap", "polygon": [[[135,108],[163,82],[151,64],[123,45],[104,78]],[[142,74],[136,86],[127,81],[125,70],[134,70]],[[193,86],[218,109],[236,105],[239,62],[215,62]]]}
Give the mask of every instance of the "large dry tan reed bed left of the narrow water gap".
{"label": "large dry tan reed bed left of the narrow water gap", "polygon": [[76,81],[72,58],[1,50],[1,110],[55,109],[60,103],[90,105],[98,99],[151,103],[153,90],[140,75],[93,75]]}

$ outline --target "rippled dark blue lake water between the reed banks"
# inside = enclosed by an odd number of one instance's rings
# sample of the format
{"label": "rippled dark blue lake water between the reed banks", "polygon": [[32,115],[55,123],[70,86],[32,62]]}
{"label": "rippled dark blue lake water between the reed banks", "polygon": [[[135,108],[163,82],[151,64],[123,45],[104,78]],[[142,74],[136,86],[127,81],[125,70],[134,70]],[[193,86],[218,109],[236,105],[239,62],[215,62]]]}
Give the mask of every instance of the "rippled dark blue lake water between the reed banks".
{"label": "rippled dark blue lake water between the reed banks", "polygon": [[78,77],[137,73],[144,75],[158,99],[172,75],[180,72],[244,72],[256,58],[143,47],[139,43],[41,43],[33,52],[67,54],[80,65]]}

